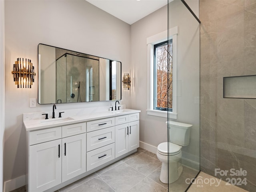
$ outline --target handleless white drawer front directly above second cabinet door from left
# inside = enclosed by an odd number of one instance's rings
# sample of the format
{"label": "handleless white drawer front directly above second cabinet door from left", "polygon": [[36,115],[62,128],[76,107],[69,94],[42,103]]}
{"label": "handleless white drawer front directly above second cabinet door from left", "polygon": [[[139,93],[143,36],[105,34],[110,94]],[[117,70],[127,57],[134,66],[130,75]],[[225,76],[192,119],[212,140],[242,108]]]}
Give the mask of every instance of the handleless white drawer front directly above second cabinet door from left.
{"label": "handleless white drawer front directly above second cabinet door from left", "polygon": [[76,123],[62,126],[62,137],[69,137],[86,132],[86,123]]}

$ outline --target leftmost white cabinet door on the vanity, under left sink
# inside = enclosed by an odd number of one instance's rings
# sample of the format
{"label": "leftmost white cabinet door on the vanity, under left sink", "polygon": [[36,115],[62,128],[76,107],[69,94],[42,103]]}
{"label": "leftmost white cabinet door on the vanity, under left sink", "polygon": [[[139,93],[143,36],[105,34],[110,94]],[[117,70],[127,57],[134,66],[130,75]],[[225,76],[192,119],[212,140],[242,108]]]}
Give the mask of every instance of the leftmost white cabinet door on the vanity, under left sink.
{"label": "leftmost white cabinet door on the vanity, under left sink", "polygon": [[42,192],[61,183],[61,139],[29,147],[29,191]]}

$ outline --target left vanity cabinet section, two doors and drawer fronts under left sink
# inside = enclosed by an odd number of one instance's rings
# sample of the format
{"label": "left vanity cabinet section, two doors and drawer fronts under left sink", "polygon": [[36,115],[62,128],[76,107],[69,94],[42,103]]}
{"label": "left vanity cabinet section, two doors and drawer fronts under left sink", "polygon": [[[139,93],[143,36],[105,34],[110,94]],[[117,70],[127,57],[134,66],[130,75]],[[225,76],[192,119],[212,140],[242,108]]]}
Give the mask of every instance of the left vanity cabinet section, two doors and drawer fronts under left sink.
{"label": "left vanity cabinet section, two doors and drawer fronts under left sink", "polygon": [[[67,135],[66,130],[73,134]],[[31,131],[28,192],[43,192],[86,172],[86,123]]]}

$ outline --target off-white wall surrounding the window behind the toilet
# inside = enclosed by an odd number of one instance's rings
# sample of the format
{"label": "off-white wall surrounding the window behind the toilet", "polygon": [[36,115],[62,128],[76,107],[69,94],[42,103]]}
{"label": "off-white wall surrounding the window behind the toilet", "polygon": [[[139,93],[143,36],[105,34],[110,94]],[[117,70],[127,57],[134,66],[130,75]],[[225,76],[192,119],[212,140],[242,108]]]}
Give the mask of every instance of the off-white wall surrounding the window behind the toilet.
{"label": "off-white wall surrounding the window behind the toilet", "polygon": [[[198,11],[199,1],[190,5]],[[196,9],[197,8],[197,9]],[[199,163],[199,24],[180,1],[170,4],[170,28],[178,26],[177,120],[193,124],[190,145],[183,148]],[[198,12],[197,12],[198,14]],[[158,146],[167,141],[167,118],[147,115],[146,38],[167,29],[167,6],[131,25],[132,108],[141,110],[140,141]],[[166,34],[167,36],[167,34]],[[190,157],[191,158],[191,157]]]}

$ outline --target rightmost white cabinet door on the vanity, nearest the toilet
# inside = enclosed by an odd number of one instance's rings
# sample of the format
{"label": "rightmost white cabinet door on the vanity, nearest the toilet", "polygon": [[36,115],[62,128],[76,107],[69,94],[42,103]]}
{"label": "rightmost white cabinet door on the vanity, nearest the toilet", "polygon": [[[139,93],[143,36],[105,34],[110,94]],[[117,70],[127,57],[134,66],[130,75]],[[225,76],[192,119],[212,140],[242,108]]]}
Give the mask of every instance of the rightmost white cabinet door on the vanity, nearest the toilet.
{"label": "rightmost white cabinet door on the vanity, nearest the toilet", "polygon": [[129,151],[140,146],[140,121],[129,123]]}

